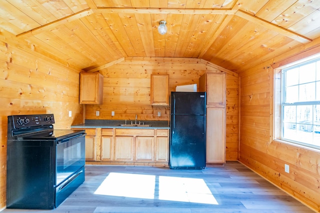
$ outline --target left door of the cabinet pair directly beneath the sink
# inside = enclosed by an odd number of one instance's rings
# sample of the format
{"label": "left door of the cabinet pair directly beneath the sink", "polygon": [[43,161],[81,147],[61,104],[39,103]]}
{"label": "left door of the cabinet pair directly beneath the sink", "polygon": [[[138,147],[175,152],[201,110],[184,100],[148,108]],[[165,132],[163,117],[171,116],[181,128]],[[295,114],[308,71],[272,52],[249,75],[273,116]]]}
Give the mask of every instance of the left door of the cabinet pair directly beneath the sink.
{"label": "left door of the cabinet pair directly beneath the sink", "polygon": [[133,161],[133,136],[115,136],[114,160]]}

